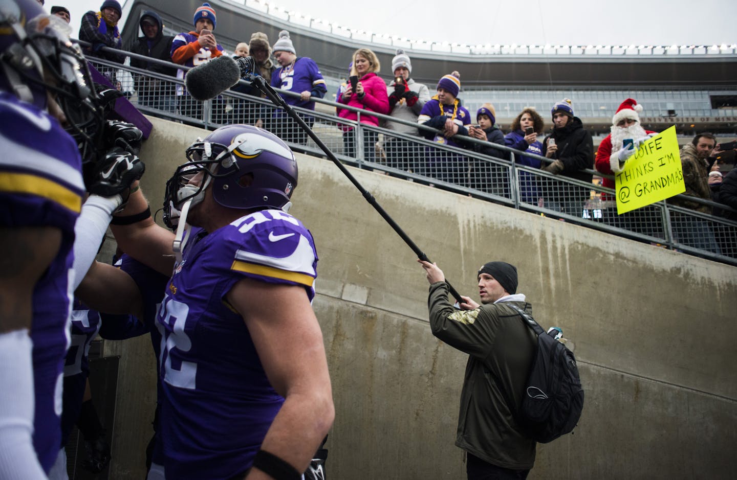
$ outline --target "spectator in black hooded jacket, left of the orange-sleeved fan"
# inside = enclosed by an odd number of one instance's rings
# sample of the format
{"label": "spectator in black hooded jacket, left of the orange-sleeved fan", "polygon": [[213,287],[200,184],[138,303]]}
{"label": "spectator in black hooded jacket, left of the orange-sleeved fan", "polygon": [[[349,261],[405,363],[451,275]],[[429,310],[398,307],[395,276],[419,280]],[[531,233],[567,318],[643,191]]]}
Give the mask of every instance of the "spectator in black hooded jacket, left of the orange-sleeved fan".
{"label": "spectator in black hooded jacket, left of the orange-sleeved fan", "polygon": [[[164,23],[158,13],[146,10],[141,15],[139,25],[143,36],[133,40],[128,50],[144,57],[170,62],[172,60],[171,51],[174,37],[164,35]],[[174,67],[163,66],[133,57],[130,58],[130,66],[169,75],[170,77],[176,77],[177,74],[177,69]],[[174,82],[159,80],[147,75],[133,74],[133,85],[136,92],[138,92],[140,105],[167,112],[176,110]]]}

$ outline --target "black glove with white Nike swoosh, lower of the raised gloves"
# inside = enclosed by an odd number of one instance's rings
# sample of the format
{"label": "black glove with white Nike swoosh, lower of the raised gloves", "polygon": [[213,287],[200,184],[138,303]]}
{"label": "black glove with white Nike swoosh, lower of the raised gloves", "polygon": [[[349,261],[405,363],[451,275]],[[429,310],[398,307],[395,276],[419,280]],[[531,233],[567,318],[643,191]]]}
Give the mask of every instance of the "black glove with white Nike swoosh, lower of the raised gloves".
{"label": "black glove with white Nike swoosh, lower of the raised gloves", "polygon": [[[112,197],[123,194],[130,185],[139,180],[146,171],[146,166],[136,155],[113,147],[101,158],[85,179],[87,191],[100,197]],[[124,200],[128,195],[124,196]]]}

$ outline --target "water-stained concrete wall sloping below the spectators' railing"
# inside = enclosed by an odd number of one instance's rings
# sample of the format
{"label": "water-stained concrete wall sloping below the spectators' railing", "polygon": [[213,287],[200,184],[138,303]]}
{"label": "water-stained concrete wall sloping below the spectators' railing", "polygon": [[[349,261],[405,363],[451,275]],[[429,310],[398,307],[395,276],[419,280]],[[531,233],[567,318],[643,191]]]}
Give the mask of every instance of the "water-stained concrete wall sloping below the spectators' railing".
{"label": "water-stained concrete wall sloping below the spectators' railing", "polygon": [[[154,208],[200,131],[152,119],[142,149]],[[336,420],[332,479],[460,479],[455,422],[466,358],[427,325],[416,255],[327,160],[298,155],[291,213],[318,248]],[[586,391],[573,435],[539,445],[531,479],[730,478],[737,469],[737,268],[436,188],[351,169],[406,233],[475,297],[491,259],[517,265],[537,320],[572,339]],[[153,412],[145,339],[121,359],[111,478],[140,478]]]}

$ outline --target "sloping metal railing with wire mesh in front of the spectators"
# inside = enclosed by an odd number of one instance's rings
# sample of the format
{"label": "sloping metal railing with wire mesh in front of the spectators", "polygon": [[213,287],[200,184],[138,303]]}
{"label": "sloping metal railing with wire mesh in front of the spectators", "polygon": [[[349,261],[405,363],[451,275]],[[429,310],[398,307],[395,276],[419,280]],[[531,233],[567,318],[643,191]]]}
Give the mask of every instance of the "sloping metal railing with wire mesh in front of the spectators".
{"label": "sloping metal railing with wire mesh in front of the spectators", "polygon": [[[136,57],[136,54],[130,56]],[[144,113],[205,128],[234,123],[257,124],[279,135],[295,151],[324,156],[298,125],[268,99],[226,91],[216,99],[198,102],[186,93],[177,95],[183,82],[174,77],[97,58],[89,60],[103,70],[114,70],[122,91],[127,92],[130,101]],[[290,91],[280,93],[298,96]],[[523,152],[469,137],[458,141],[469,148],[450,147],[415,134],[419,130],[436,132],[429,127],[371,112],[370,115],[380,119],[383,125],[376,127],[361,122],[362,116],[368,114],[366,110],[325,99],[315,99],[315,102],[318,108],[314,111],[300,107],[295,110],[344,163],[737,265],[737,222],[666,202],[617,215],[612,189],[515,163],[514,154]],[[336,108],[354,111],[357,120],[339,118]],[[398,133],[397,127],[411,132]],[[493,146],[498,155],[475,152],[476,145]],[[551,161],[530,153],[524,155],[539,159],[543,165]],[[585,172],[603,176],[593,170]],[[733,211],[727,205],[685,198]]]}

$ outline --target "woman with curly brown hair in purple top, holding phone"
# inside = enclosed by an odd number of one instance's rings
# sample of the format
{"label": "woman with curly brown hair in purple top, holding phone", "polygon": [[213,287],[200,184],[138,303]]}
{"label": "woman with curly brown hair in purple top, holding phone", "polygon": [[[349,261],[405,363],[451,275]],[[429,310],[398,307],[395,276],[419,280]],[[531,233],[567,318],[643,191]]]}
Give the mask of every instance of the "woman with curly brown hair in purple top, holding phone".
{"label": "woman with curly brown hair in purple top, holding phone", "polygon": [[[504,136],[504,144],[515,150],[542,156],[542,144],[537,140],[537,135],[542,133],[543,127],[545,127],[545,122],[542,121],[542,116],[533,108],[525,108],[512,121],[511,132]],[[514,163],[539,169],[542,160],[515,153]],[[525,203],[539,205],[540,192],[537,184],[537,175],[519,171],[517,174],[520,176],[520,200]]]}

